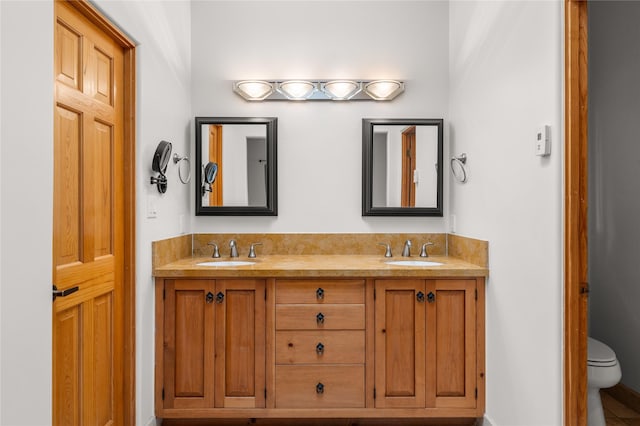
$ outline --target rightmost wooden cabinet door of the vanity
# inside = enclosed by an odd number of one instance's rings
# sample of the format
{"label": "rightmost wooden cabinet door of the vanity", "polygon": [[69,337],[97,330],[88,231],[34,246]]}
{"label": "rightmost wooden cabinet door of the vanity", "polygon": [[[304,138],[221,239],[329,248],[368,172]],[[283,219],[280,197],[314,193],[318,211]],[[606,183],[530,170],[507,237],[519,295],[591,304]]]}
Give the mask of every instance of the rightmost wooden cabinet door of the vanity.
{"label": "rightmost wooden cabinet door of the vanity", "polygon": [[427,281],[427,406],[476,406],[476,280]]}

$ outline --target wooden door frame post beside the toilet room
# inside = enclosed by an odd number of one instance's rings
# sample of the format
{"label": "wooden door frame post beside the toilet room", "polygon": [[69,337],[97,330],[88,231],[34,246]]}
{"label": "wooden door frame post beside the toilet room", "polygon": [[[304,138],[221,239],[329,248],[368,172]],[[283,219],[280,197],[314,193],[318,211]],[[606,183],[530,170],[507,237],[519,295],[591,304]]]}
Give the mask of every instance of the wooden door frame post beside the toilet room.
{"label": "wooden door frame post beside the toilet room", "polygon": [[587,424],[587,1],[565,0],[564,424]]}

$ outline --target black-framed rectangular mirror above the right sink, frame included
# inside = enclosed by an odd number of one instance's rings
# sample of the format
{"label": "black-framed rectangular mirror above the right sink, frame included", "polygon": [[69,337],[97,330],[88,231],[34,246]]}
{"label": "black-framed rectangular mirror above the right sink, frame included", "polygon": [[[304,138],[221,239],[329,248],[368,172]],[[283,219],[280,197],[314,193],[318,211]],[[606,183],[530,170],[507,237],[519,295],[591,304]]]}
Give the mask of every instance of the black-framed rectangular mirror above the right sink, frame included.
{"label": "black-framed rectangular mirror above the right sink, frame included", "polygon": [[442,217],[443,120],[362,120],[362,215]]}

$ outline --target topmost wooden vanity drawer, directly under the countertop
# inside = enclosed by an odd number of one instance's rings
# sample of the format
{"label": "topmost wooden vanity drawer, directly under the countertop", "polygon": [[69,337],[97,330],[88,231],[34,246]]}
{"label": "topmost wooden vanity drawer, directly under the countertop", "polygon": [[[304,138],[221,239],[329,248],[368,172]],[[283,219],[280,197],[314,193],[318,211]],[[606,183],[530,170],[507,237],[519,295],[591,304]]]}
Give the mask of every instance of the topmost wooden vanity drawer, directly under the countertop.
{"label": "topmost wooden vanity drawer, directly under the countertop", "polygon": [[276,303],[364,303],[363,280],[282,280]]}

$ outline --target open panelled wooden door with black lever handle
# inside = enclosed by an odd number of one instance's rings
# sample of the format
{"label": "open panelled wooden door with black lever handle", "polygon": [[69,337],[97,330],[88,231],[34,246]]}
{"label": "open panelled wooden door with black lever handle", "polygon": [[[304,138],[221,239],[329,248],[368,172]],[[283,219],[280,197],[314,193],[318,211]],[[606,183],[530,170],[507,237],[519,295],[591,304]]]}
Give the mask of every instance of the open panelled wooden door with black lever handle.
{"label": "open panelled wooden door with black lever handle", "polygon": [[132,321],[125,261],[133,267],[125,253],[133,205],[125,201],[130,176],[122,161],[128,62],[113,34],[92,23],[98,15],[85,2],[56,1],[55,16],[52,275],[71,294],[53,304],[52,423],[121,425],[133,413],[124,383],[133,358],[124,354],[133,351],[124,333]]}

